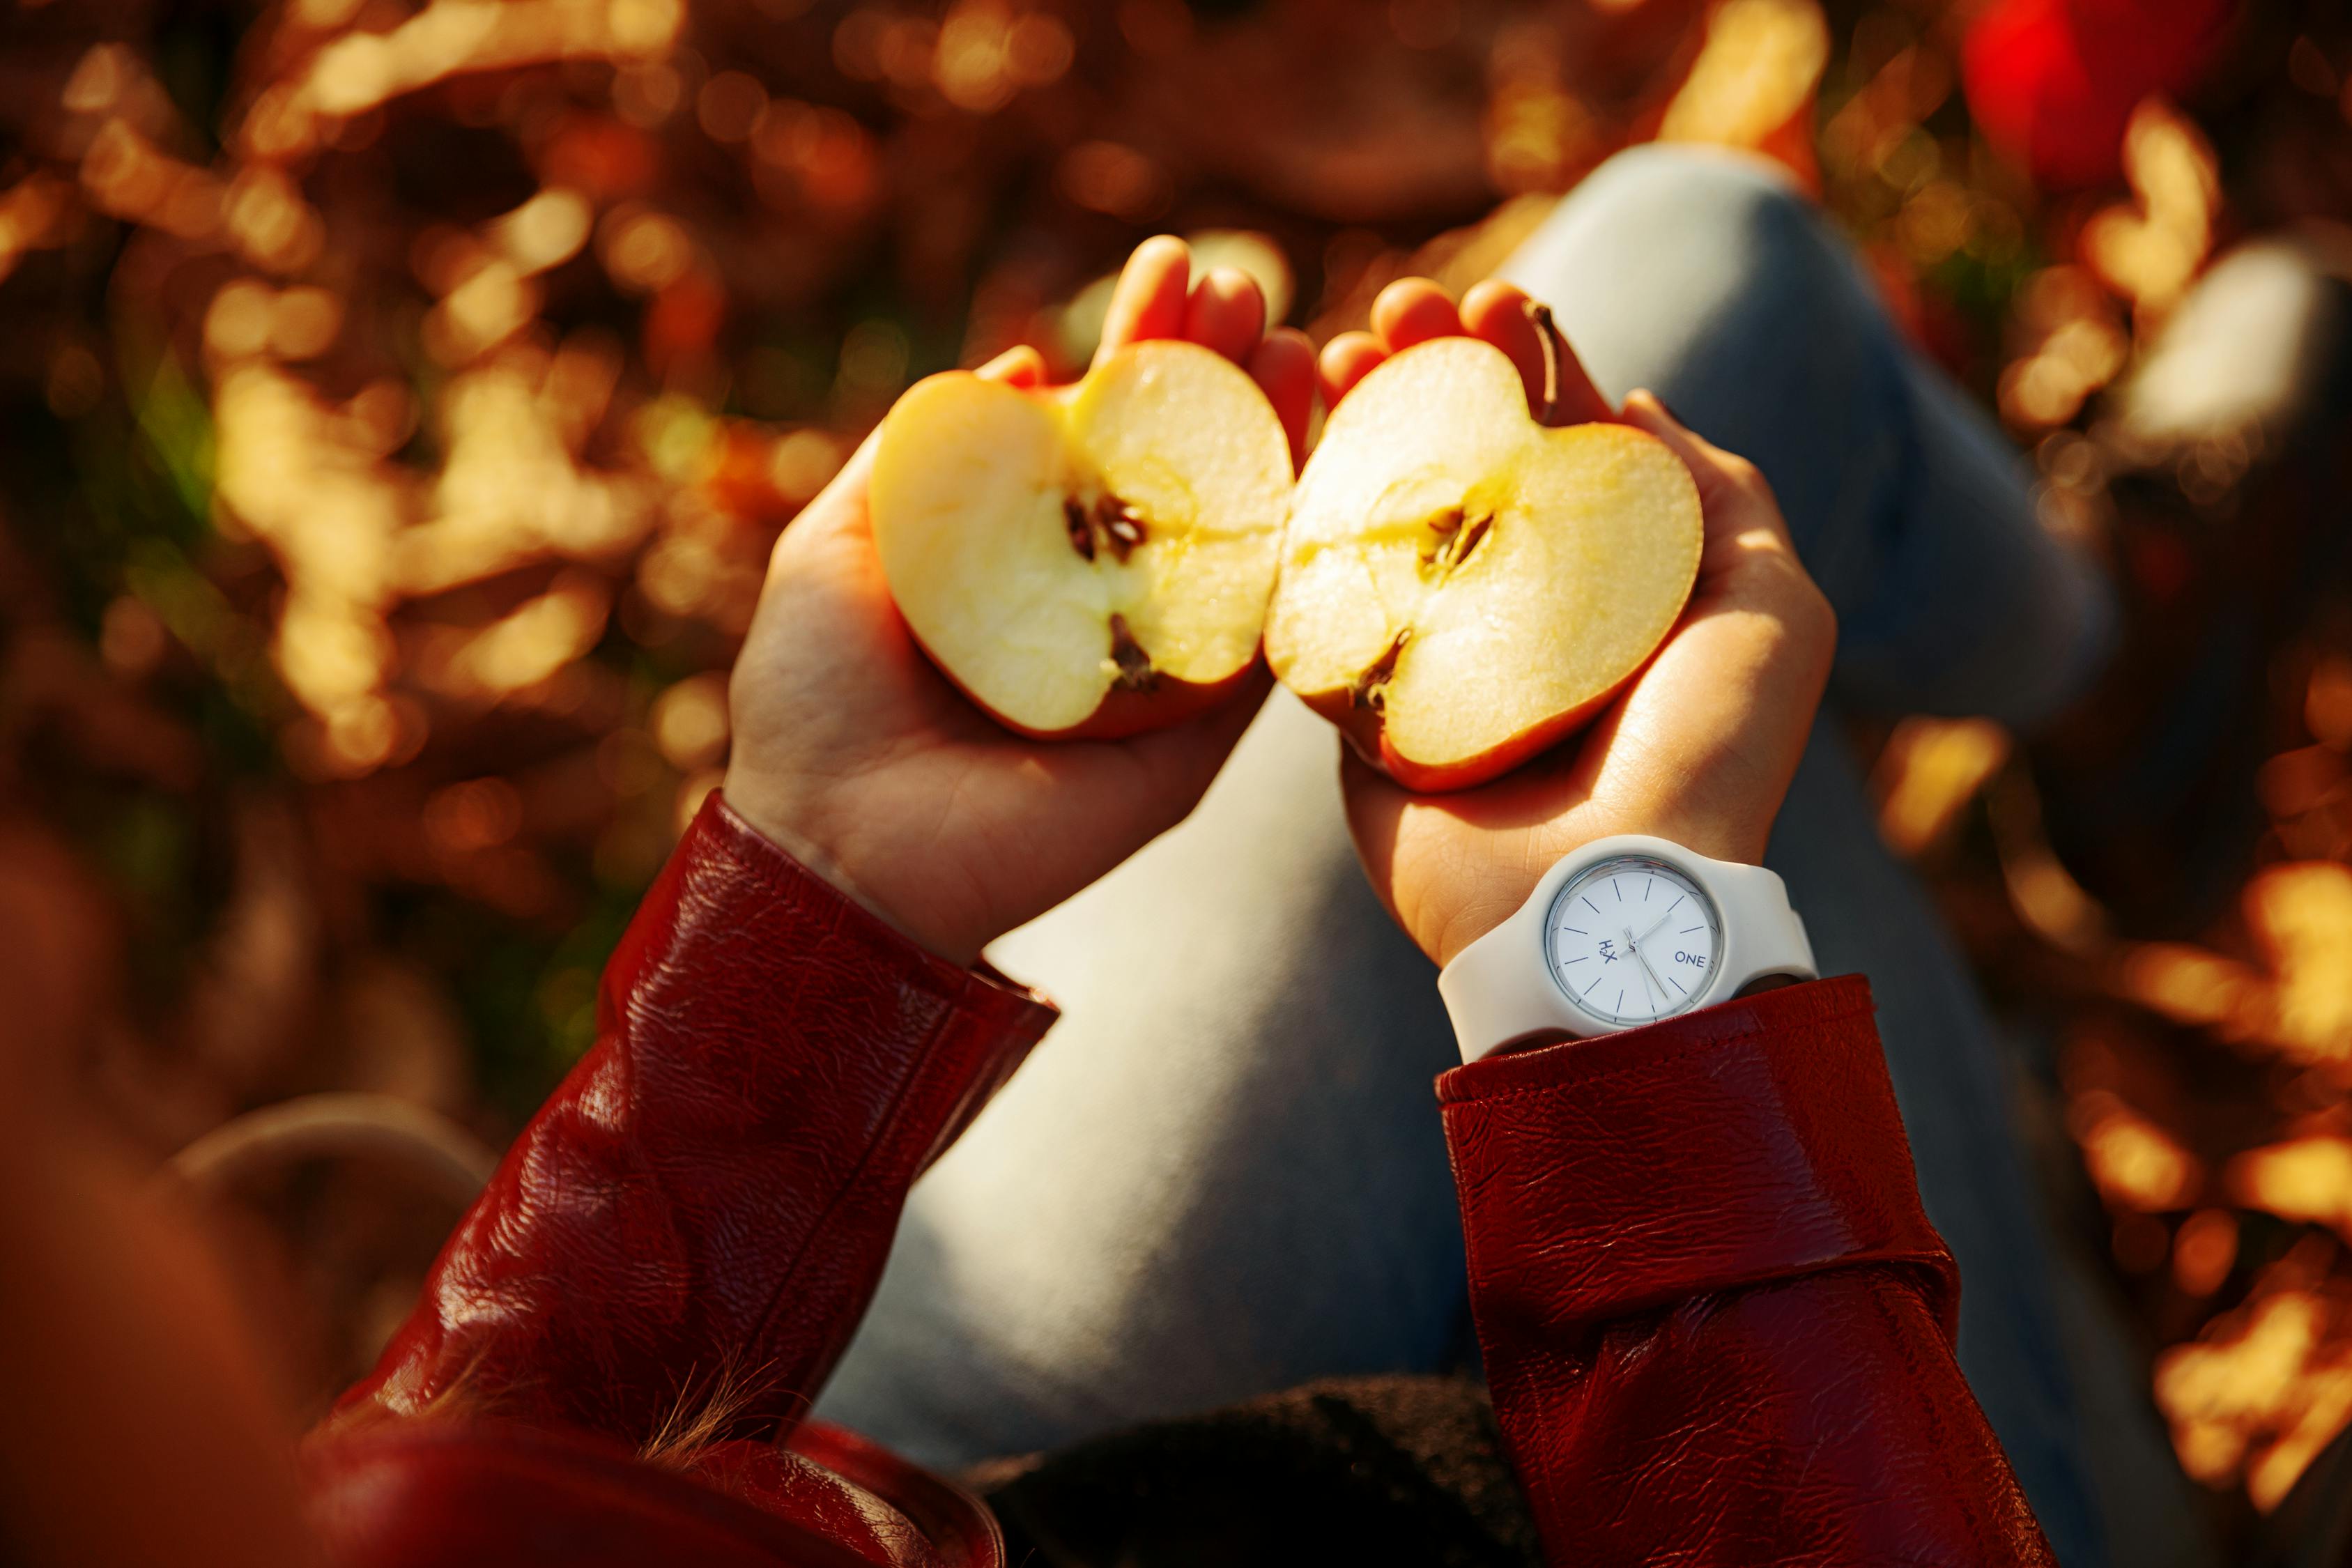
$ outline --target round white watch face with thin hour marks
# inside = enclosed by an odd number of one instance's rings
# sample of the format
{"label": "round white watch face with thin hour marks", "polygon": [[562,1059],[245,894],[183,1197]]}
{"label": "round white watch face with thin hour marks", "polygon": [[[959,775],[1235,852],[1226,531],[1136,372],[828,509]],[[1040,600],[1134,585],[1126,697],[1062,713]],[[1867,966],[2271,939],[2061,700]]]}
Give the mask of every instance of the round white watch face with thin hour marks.
{"label": "round white watch face with thin hour marks", "polygon": [[1649,856],[1585,867],[1552,898],[1543,929],[1543,954],[1559,990],[1616,1025],[1696,1006],[1715,980],[1722,945],[1715,900]]}

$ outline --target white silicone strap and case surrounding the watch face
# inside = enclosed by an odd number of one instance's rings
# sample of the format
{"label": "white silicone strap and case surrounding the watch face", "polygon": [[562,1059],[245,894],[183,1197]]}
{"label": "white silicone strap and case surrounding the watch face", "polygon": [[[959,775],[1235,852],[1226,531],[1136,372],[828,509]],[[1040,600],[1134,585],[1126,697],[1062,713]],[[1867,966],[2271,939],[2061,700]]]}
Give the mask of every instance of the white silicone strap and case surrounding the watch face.
{"label": "white silicone strap and case surrounding the watch face", "polygon": [[1722,952],[1715,973],[1686,1011],[1729,1001],[1743,985],[1764,976],[1804,980],[1816,976],[1813,945],[1806,940],[1804,922],[1790,907],[1788,886],[1778,875],[1762,865],[1710,860],[1682,844],[1646,835],[1595,839],[1543,872],[1526,903],[1501,926],[1456,952],[1454,961],[1439,971],[1437,994],[1444,997],[1446,1016],[1454,1018],[1454,1037],[1461,1041],[1465,1063],[1548,1030],[1613,1034],[1639,1027],[1604,1023],[1571,1004],[1552,978],[1552,961],[1543,950],[1543,922],[1559,889],[1588,867],[1621,856],[1651,856],[1679,867],[1715,900],[1715,912],[1722,917]]}

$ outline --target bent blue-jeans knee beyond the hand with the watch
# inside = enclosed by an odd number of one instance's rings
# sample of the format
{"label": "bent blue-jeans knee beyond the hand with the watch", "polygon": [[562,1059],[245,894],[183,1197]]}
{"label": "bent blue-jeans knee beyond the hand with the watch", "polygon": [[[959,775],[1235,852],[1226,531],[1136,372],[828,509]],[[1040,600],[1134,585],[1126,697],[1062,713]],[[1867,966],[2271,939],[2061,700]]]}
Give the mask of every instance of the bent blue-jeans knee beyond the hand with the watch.
{"label": "bent blue-jeans knee beyond the hand with the watch", "polygon": [[1773,165],[1644,146],[1503,266],[1599,388],[1637,386],[1771,480],[1839,618],[1842,701],[2049,717],[2105,661],[2114,602],[2034,520],[2018,454],[1896,336]]}

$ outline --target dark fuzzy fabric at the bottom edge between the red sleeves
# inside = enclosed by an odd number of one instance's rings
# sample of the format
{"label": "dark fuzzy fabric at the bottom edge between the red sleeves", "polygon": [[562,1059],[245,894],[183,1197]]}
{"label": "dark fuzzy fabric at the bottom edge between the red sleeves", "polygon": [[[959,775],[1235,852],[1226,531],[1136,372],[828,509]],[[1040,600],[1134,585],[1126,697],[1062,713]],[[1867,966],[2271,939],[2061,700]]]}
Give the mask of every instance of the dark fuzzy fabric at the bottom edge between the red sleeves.
{"label": "dark fuzzy fabric at the bottom edge between the red sleeves", "polygon": [[1536,1526],[1465,1378],[1315,1382],[964,1476],[1037,1568],[1534,1568]]}

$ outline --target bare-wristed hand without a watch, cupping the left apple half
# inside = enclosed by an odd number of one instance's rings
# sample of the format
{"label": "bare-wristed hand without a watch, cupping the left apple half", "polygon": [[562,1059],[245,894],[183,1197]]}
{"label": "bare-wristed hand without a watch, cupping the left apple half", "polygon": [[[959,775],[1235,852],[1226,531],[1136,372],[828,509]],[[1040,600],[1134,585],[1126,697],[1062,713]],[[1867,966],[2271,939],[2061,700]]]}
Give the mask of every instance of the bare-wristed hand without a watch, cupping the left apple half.
{"label": "bare-wristed hand without a watch, cupping the left apple half", "polygon": [[[1103,350],[1190,339],[1244,364],[1291,437],[1315,395],[1298,331],[1263,336],[1240,270],[1192,280],[1181,240],[1145,240]],[[1016,348],[983,376],[1037,386]],[[931,668],[891,604],[866,520],[873,440],[783,531],[729,684],[727,802],[793,858],[953,964],[1042,914],[1174,827],[1265,696],[1263,670],[1221,708],[1129,741],[1025,741]]]}

